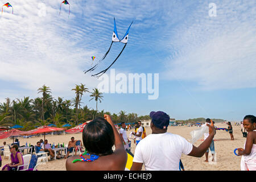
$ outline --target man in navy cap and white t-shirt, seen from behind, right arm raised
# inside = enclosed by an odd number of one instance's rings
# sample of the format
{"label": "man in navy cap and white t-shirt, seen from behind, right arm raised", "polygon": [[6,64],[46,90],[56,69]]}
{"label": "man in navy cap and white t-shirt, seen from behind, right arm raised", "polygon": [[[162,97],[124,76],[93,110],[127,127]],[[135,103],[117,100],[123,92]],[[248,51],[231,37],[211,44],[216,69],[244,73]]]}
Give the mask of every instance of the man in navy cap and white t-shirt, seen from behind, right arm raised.
{"label": "man in navy cap and white t-shirt, seen from behind, right arm raised", "polygon": [[181,154],[203,156],[214,137],[214,126],[211,123],[209,137],[199,147],[195,147],[185,138],[167,133],[170,117],[166,113],[152,111],[150,117],[152,134],[138,143],[131,171],[140,171],[143,163],[146,170],[179,171]]}

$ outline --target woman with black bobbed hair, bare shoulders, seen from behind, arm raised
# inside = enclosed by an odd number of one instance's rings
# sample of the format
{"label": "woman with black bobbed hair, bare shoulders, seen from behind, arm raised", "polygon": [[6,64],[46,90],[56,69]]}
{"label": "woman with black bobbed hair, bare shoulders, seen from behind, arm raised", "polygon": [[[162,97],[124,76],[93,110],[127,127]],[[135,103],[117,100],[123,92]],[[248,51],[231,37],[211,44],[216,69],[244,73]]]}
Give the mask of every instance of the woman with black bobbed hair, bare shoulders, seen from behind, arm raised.
{"label": "woman with black bobbed hair, bare shoulders, seen from behind, arm raised", "polygon": [[[105,118],[105,119],[104,119]],[[87,154],[71,156],[66,161],[67,171],[124,171],[127,152],[121,136],[109,115],[89,122],[82,131],[82,142]],[[112,147],[115,146],[113,152]],[[89,162],[89,160],[92,160]]]}

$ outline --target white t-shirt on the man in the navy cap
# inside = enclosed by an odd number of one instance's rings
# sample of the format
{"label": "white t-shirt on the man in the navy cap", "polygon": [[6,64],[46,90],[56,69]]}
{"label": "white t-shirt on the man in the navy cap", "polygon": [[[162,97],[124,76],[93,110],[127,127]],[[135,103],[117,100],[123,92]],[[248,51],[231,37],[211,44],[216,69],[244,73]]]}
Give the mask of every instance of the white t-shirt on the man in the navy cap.
{"label": "white t-shirt on the man in the navy cap", "polygon": [[180,135],[150,134],[138,143],[133,162],[144,163],[147,171],[179,171],[181,154],[188,155],[192,148]]}

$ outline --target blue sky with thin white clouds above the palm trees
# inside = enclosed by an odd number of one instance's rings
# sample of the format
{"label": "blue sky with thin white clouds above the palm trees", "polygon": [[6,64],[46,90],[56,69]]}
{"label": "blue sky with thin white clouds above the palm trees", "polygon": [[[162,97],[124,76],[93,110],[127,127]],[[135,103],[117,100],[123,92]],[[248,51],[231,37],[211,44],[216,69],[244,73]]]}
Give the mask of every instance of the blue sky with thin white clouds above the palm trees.
{"label": "blue sky with thin white clouds above the palm trees", "polygon": [[[256,110],[255,1],[80,1],[10,0],[0,15],[0,102],[52,96],[72,100],[76,84],[89,90],[92,77],[107,68],[124,44],[114,43],[92,73],[84,74],[108,51],[114,18],[119,38],[130,23],[126,48],[111,68],[115,74],[159,74],[159,96],[104,93],[99,110],[171,118],[242,121]],[[1,6],[6,1],[0,0]],[[212,6],[214,3],[215,6]],[[106,72],[110,76],[110,69]],[[148,78],[148,77],[147,77]],[[117,81],[118,82],[118,81]],[[129,85],[128,85],[129,86]],[[82,105],[96,109],[82,97]]]}

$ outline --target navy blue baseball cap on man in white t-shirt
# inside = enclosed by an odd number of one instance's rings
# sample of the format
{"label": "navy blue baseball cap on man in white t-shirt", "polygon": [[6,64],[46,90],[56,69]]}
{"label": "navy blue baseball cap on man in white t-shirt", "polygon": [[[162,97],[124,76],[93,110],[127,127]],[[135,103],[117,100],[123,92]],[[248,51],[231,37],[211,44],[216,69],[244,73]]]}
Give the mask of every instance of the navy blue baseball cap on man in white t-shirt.
{"label": "navy blue baseball cap on man in white t-shirt", "polygon": [[152,123],[159,129],[167,129],[170,124],[170,117],[162,111],[151,111],[150,118]]}

